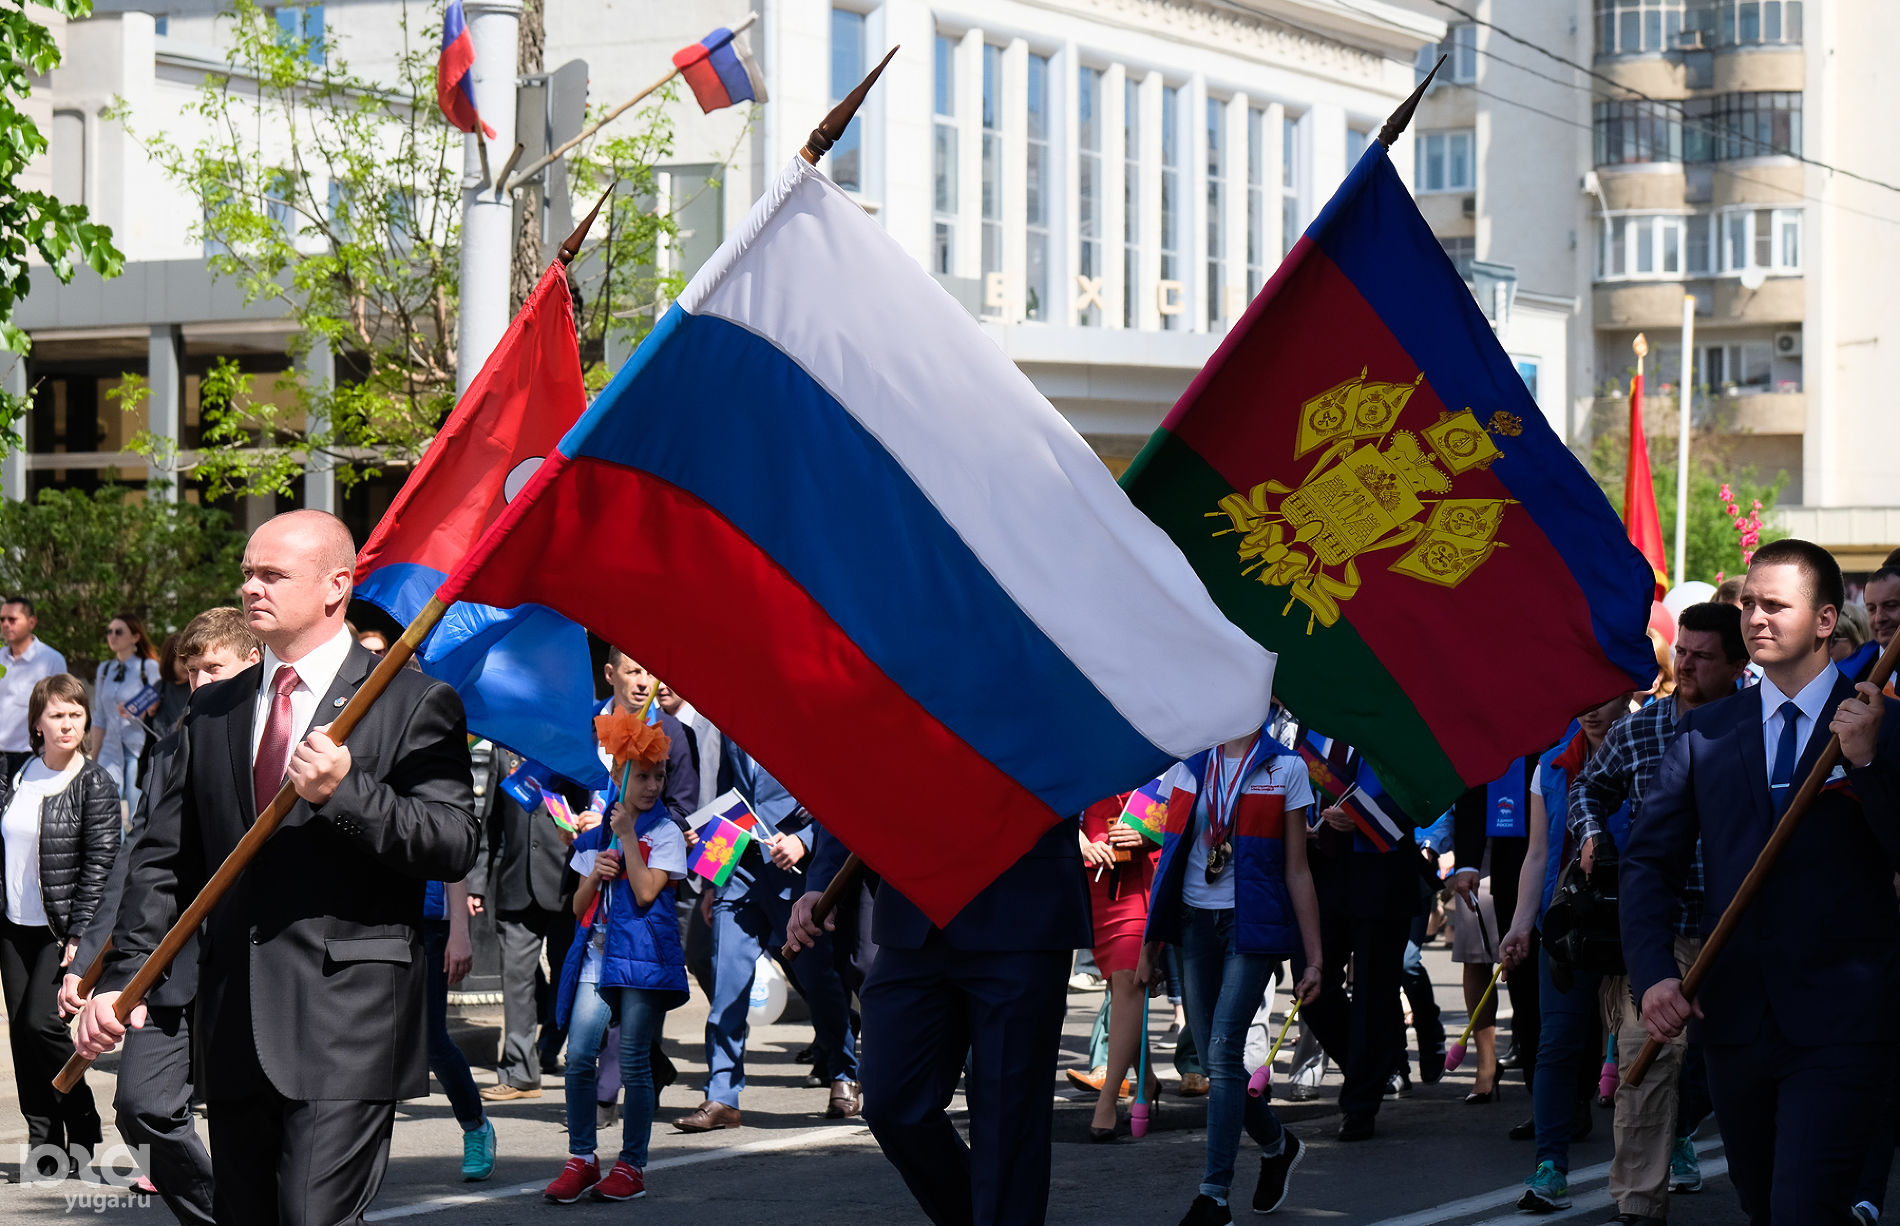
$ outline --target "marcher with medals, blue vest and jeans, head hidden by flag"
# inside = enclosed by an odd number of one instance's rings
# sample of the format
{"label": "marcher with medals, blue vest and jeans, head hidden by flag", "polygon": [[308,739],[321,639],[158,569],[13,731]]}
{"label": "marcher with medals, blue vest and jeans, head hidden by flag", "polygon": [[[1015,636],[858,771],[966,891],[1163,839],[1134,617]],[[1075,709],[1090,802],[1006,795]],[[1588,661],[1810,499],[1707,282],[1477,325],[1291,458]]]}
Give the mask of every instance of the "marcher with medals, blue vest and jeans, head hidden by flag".
{"label": "marcher with medals, blue vest and jeans, head hidden by flag", "polygon": [[1182,1226],[1222,1226],[1233,1220],[1243,1127],[1262,1148],[1254,1213],[1281,1207],[1305,1150],[1265,1097],[1246,1093],[1243,1055],[1281,960],[1303,958],[1294,994],[1319,996],[1319,899],[1305,859],[1313,787],[1300,755],[1265,730],[1197,753],[1161,783],[1168,825],[1136,981],[1153,981],[1163,943],[1180,947],[1188,1026],[1210,1082],[1206,1167]]}

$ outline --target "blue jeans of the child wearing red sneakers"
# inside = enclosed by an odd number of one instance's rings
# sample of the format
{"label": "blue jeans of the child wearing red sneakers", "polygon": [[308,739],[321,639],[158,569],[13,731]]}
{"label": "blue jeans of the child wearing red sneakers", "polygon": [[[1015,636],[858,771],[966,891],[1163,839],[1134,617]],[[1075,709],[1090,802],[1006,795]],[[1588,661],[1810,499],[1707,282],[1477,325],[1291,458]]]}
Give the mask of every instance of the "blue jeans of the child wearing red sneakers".
{"label": "blue jeans of the child wearing red sneakers", "polygon": [[[659,992],[581,983],[568,1017],[568,1154],[593,1158],[600,1072],[600,1040],[619,1025],[619,1080],[627,1099],[619,1108],[619,1159],[646,1169],[646,1142],[654,1135],[652,1047],[667,1011]],[[614,1013],[619,1011],[616,1019]]]}

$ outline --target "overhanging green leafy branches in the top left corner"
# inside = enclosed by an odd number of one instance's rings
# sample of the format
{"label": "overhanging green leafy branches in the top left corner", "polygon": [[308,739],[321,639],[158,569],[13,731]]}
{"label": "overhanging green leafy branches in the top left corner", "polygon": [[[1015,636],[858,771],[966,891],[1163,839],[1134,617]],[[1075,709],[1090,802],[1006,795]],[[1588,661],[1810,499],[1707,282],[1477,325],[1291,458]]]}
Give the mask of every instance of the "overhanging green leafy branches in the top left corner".
{"label": "overhanging green leafy branches in the top left corner", "polygon": [[[68,21],[93,11],[91,0],[36,0]],[[116,278],[125,257],[112,245],[112,230],[93,222],[86,205],[61,203],[51,192],[19,186],[27,163],[46,152],[46,133],[21,110],[32,78],[59,65],[53,32],[36,23],[25,2],[0,13],[0,350],[25,354],[27,333],[13,323],[15,304],[32,289],[28,253],[40,253],[61,281],[78,264],[103,278]],[[21,447],[19,420],[28,409],[23,395],[0,393],[0,454]]]}

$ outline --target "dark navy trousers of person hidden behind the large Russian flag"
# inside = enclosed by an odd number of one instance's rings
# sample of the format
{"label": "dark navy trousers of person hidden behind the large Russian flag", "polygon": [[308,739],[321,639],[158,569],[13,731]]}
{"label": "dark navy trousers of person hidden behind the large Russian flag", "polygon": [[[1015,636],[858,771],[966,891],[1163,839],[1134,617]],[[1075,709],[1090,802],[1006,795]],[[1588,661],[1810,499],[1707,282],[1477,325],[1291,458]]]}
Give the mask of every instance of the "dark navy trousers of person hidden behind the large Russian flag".
{"label": "dark navy trousers of person hidden behind the large Russian flag", "polygon": [[[864,979],[864,1123],[937,1226],[1037,1226],[1072,950],[973,952],[933,931]],[[969,1144],[946,1108],[969,1059]]]}

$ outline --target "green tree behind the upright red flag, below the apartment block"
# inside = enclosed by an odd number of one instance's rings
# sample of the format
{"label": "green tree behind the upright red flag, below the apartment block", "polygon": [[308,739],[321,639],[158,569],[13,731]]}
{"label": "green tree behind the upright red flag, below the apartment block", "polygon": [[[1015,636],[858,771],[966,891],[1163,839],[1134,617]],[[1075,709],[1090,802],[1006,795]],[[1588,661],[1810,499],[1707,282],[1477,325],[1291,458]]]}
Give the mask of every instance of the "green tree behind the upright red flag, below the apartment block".
{"label": "green tree behind the upright red flag, below the apartment block", "polygon": [[[1590,452],[1590,471],[1611,506],[1623,508],[1623,473],[1630,452],[1628,428],[1600,433]],[[1676,439],[1649,439],[1649,475],[1662,519],[1662,547],[1668,553],[1670,576],[1676,574]],[[1723,509],[1721,487],[1729,485],[1735,502],[1746,513],[1761,500],[1761,517],[1769,519],[1775,498],[1788,485],[1788,473],[1761,481],[1754,468],[1737,466],[1733,447],[1721,433],[1699,433],[1689,443],[1689,559],[1683,578],[1714,584],[1718,574],[1742,572],[1742,549],[1737,544],[1735,521]],[[1763,523],[1761,542],[1786,536]]]}

